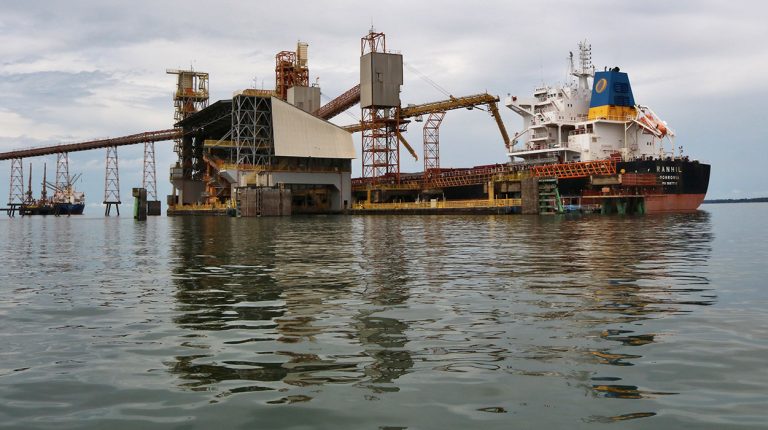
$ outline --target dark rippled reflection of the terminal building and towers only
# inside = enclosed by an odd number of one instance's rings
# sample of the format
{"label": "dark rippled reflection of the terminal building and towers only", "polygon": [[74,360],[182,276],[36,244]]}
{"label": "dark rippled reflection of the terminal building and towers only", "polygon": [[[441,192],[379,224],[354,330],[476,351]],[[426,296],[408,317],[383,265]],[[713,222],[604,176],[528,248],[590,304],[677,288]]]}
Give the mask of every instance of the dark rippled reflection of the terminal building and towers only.
{"label": "dark rippled reflection of the terminal building and towers only", "polygon": [[[359,382],[397,389],[390,383],[413,365],[403,348],[408,326],[374,314],[408,300],[400,277],[405,257],[391,258],[404,244],[392,235],[381,248],[364,249],[355,237],[365,233],[350,223],[314,231],[313,220],[174,220],[175,322],[189,330],[190,354],[171,368],[184,386],[234,382],[240,386],[228,392],[237,393],[282,388],[276,382]],[[190,230],[199,234],[183,233]]]}

